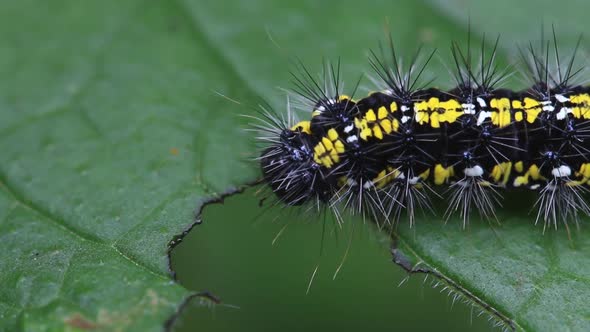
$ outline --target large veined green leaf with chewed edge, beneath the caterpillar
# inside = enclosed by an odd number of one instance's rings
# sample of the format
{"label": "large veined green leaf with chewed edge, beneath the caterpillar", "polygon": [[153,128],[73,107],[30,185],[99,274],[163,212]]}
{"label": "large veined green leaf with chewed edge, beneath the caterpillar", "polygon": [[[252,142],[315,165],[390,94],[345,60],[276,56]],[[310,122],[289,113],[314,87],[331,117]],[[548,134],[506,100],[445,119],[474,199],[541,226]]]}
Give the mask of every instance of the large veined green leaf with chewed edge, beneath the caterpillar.
{"label": "large veined green leaf with chewed edge, beneath the caterpillar", "polygon": [[[588,12],[523,4],[473,5],[473,30],[527,40],[547,13],[572,45],[582,31],[572,22]],[[172,280],[168,243],[202,202],[257,176],[237,115],[261,98],[282,109],[275,87],[288,87],[288,59],[340,56],[353,81],[386,20],[406,56],[466,34],[461,6],[413,1],[0,9],[0,330],[161,329],[190,295]],[[444,65],[430,70],[445,84]],[[587,242],[542,235],[530,219],[506,220],[500,240],[477,223],[468,232],[436,220],[400,227],[400,255],[517,327],[587,328]]]}

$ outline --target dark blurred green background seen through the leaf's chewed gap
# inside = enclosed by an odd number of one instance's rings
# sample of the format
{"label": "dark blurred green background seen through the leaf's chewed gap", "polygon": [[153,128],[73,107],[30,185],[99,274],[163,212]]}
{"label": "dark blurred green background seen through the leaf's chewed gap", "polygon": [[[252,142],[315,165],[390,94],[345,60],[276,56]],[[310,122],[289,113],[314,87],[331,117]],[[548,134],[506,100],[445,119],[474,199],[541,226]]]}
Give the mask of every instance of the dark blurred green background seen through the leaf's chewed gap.
{"label": "dark blurred green background seen through the leaf's chewed gap", "polygon": [[409,277],[395,265],[388,238],[370,224],[337,230],[327,220],[320,256],[317,217],[260,209],[254,190],[207,206],[203,220],[175,249],[173,264],[183,285],[206,286],[223,304],[195,301],[177,331],[492,330],[486,315],[433,288],[433,277]]}

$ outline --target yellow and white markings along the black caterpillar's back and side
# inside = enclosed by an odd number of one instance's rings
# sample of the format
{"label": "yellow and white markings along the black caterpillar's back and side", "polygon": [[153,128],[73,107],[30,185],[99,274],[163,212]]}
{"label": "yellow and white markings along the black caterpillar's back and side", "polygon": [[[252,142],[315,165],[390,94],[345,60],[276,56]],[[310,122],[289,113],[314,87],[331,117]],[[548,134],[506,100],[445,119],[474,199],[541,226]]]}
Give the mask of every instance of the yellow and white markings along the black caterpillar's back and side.
{"label": "yellow and white markings along the black caterpillar's back and side", "polygon": [[[371,97],[373,95],[368,98]],[[338,99],[339,102],[346,100],[351,99],[344,95]],[[530,127],[530,125],[538,123],[537,120],[542,112],[561,112],[566,115],[571,114],[575,119],[590,119],[590,94],[558,95],[556,100],[537,100],[526,95],[516,95],[514,97],[477,98],[473,104],[462,103],[456,98],[441,99],[436,96],[423,98],[409,106],[407,104],[401,105],[396,101],[373,102],[371,107],[360,112],[360,116],[352,119],[353,123],[351,122],[345,128],[344,133],[339,135],[334,128],[329,129],[327,135],[322,137],[314,147],[313,158],[317,164],[332,168],[341,162],[347,142],[361,140],[366,142],[364,143],[366,145],[370,144],[371,139],[382,141],[389,134],[399,131],[400,122],[402,122],[400,119],[407,114],[413,116],[413,122],[410,125],[428,126],[433,129],[441,128],[444,123],[456,123],[465,115],[473,116],[476,119],[476,125],[485,122],[495,128],[504,128],[524,122],[528,123]],[[363,99],[358,102],[363,103]],[[557,106],[557,102],[561,104]],[[302,121],[292,129],[309,134],[310,123]],[[518,145],[519,143],[512,144]],[[494,163],[484,170],[485,179],[482,179],[482,183],[486,182],[501,187],[522,187],[539,181],[547,181],[547,177],[543,176],[545,173],[540,170],[540,165],[529,163],[527,163],[527,167],[525,167],[524,160],[505,160]],[[447,163],[447,165],[451,166],[435,163],[419,177],[422,180],[430,180],[435,185],[446,185],[456,181],[456,176],[462,174],[456,174],[458,169],[456,166],[452,166],[453,163]],[[400,175],[402,173],[398,169],[387,167],[371,181],[377,188],[383,188],[399,178]],[[570,185],[590,184],[590,163],[582,164],[574,175],[573,180],[569,181]]]}

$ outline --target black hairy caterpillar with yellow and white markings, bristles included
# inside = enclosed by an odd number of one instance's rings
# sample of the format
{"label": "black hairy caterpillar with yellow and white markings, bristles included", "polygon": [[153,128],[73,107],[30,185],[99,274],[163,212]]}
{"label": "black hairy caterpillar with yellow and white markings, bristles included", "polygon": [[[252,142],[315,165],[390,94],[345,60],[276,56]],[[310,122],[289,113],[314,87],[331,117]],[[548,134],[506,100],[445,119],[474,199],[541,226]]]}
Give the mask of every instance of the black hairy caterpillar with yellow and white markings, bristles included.
{"label": "black hairy caterpillar with yellow and white markings, bristles included", "polygon": [[576,84],[574,66],[580,39],[565,65],[555,31],[540,50],[521,49],[530,81],[521,91],[500,87],[511,73],[498,69],[498,43],[486,52],[484,37],[475,57],[469,43],[452,43],[456,84],[448,91],[421,83],[435,51],[420,61],[419,49],[404,71],[391,38],[369,55],[380,88],[359,99],[359,83],[340,91],[340,61],[319,80],[300,64],[294,90],[308,118],[296,121],[290,103],[287,119],[260,112],[264,181],[286,205],[388,223],[405,211],[412,225],[439,197],[446,218],[458,213],[465,226],[474,209],[496,218],[502,193],[522,189],[538,194],[535,223],[567,227],[590,215],[590,87]]}

